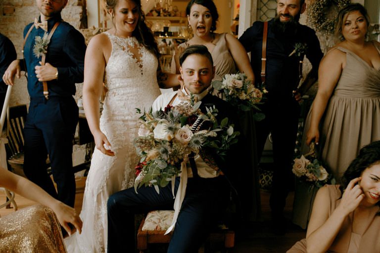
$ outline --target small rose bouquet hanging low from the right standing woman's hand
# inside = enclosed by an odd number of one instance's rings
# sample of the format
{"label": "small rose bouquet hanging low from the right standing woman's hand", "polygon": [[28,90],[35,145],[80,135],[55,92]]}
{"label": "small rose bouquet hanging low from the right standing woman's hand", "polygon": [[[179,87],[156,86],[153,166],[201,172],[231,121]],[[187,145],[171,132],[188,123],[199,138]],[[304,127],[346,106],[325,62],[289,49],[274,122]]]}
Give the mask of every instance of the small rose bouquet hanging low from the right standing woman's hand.
{"label": "small rose bouquet hanging low from the right standing woman's hand", "polygon": [[329,174],[322,162],[317,159],[315,145],[310,145],[310,152],[294,159],[291,170],[301,181],[310,183],[310,189],[314,186],[322,187],[325,184],[335,184],[332,174]]}

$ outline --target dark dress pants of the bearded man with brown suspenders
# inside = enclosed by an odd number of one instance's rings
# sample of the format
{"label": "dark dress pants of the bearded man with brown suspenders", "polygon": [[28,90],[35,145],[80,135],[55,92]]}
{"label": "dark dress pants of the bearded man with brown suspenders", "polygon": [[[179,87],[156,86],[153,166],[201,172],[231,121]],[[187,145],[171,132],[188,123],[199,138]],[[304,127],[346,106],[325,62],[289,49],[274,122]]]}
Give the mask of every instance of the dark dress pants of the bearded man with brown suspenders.
{"label": "dark dress pants of the bearded man with brown suspenders", "polygon": [[261,157],[268,134],[272,133],[274,173],[270,206],[274,217],[282,217],[286,196],[294,184],[291,169],[300,105],[293,98],[268,99],[262,110],[265,119],[256,122],[258,154]]}

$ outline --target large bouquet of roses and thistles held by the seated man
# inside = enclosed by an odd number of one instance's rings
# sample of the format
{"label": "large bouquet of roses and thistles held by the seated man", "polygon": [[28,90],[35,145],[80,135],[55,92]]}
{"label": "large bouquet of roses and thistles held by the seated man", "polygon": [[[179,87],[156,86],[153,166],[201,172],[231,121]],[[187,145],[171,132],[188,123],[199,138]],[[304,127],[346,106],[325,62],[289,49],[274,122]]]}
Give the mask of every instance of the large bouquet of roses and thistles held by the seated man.
{"label": "large bouquet of roses and thistles held by the seated man", "polygon": [[[199,109],[201,101],[181,102],[163,111],[144,111],[140,117],[139,137],[135,140],[141,157],[136,169],[135,190],[142,185],[165,187],[181,173],[182,163],[189,156],[196,155],[202,147],[211,147],[224,159],[230,145],[238,142],[239,132],[234,131],[228,118],[220,124],[216,120],[218,109],[206,108],[204,114]],[[137,108],[137,112],[141,110]],[[218,168],[216,168],[218,169]]]}

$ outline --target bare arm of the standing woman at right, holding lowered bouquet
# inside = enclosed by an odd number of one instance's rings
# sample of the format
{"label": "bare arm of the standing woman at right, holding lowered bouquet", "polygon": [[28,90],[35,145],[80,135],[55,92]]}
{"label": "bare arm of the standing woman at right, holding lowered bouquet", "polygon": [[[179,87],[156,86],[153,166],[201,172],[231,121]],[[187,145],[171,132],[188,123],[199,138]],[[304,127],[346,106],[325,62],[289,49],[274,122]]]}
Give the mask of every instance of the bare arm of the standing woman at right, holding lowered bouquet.
{"label": "bare arm of the standing woman at right, holding lowered bouquet", "polygon": [[319,142],[319,123],[344,68],[345,59],[345,53],[332,49],[321,61],[318,71],[318,92],[313,102],[310,128],[306,133],[307,145],[310,145],[313,140],[316,144]]}

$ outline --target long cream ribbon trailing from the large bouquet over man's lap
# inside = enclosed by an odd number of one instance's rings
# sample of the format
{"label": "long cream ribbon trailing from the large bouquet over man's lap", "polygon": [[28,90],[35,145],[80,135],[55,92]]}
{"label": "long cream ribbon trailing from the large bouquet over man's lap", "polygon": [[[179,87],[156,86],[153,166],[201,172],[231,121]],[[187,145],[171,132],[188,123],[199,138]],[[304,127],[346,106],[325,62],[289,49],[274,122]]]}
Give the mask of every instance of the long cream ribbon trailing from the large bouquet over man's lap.
{"label": "long cream ribbon trailing from the large bouquet over man's lap", "polygon": [[[172,224],[170,225],[168,230],[166,230],[165,235],[169,234],[174,229],[174,226],[176,225],[177,217],[181,211],[182,202],[184,201],[184,198],[185,198],[187,185],[188,185],[188,168],[186,166],[186,162],[182,162],[180,185],[178,186],[177,194],[174,200],[174,217],[172,220]],[[174,195],[173,183],[172,183],[172,190],[173,190],[173,195]]]}

